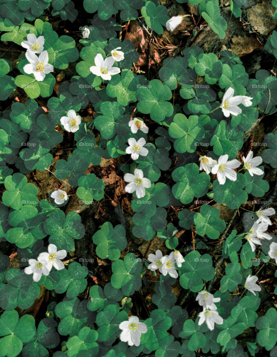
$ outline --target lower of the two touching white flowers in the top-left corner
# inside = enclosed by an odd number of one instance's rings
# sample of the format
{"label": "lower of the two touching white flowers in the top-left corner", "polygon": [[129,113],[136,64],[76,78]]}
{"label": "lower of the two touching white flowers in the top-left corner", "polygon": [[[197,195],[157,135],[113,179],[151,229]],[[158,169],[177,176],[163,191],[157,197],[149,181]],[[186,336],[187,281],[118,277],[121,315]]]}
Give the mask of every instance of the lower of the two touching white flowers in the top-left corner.
{"label": "lower of the two touching white flowers in the top-left corner", "polygon": [[48,63],[47,51],[41,52],[39,56],[34,52],[26,51],[25,56],[30,63],[23,67],[23,71],[33,74],[37,81],[43,81],[46,74],[54,71],[54,67]]}

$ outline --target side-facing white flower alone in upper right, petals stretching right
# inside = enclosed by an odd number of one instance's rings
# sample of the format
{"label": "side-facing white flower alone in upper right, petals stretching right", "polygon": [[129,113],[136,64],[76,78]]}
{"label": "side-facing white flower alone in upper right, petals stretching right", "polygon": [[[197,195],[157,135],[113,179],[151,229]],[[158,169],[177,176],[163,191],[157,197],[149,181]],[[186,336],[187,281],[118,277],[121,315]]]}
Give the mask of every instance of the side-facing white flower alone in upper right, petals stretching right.
{"label": "side-facing white flower alone in upper right, petals stretching right", "polygon": [[253,98],[242,95],[234,96],[234,89],[230,87],[224,93],[220,108],[222,109],[224,116],[227,118],[230,114],[237,116],[238,114],[241,114],[241,109],[238,105],[243,104],[244,106],[249,107],[252,105],[251,99]]}

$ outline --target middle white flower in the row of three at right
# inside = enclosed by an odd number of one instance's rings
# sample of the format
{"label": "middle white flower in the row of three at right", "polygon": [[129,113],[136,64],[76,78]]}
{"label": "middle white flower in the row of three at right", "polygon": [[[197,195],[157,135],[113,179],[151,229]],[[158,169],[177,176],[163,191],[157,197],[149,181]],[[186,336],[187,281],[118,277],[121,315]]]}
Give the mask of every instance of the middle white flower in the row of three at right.
{"label": "middle white flower in the row of three at right", "polygon": [[224,185],[226,177],[231,181],[236,181],[236,169],[240,166],[239,160],[233,159],[228,161],[228,155],[221,155],[218,159],[218,164],[212,167],[212,174],[217,174],[217,179],[220,185]]}

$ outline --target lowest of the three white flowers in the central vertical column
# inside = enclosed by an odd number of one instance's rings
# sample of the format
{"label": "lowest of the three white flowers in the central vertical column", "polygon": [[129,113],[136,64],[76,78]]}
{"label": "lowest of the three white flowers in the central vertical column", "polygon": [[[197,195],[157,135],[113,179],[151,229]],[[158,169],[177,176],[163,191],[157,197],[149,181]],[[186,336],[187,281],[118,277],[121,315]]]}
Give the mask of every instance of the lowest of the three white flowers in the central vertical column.
{"label": "lowest of the three white flowers in the central vertical column", "polygon": [[124,181],[130,182],[125,187],[125,191],[128,193],[135,194],[138,198],[142,198],[145,196],[145,188],[151,187],[151,181],[148,178],[143,177],[143,171],[139,169],[135,169],[133,174],[125,174]]}

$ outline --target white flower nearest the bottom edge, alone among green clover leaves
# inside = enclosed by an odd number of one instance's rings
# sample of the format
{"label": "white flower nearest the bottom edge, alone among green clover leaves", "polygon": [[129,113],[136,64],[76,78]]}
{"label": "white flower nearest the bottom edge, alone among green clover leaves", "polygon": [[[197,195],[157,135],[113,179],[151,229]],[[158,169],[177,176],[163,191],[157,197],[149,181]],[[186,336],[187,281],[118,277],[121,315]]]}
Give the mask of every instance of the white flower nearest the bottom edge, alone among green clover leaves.
{"label": "white flower nearest the bottom edge, alone among green clover leaves", "polygon": [[139,322],[137,316],[130,316],[128,321],[123,321],[119,324],[120,340],[122,342],[128,342],[129,346],[139,346],[140,336],[142,333],[147,332],[147,326],[143,322]]}

